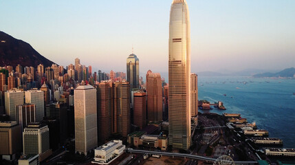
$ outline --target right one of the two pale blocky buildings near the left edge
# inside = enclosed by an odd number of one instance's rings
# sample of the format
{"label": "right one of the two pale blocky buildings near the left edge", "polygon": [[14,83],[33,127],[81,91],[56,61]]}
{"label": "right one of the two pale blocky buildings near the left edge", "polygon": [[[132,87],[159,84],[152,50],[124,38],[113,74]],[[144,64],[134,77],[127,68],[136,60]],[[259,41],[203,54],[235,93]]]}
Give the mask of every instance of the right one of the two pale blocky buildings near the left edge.
{"label": "right one of the two pale blocky buildings near the left edge", "polygon": [[25,103],[35,104],[36,122],[41,122],[44,118],[44,93],[41,90],[25,91]]}

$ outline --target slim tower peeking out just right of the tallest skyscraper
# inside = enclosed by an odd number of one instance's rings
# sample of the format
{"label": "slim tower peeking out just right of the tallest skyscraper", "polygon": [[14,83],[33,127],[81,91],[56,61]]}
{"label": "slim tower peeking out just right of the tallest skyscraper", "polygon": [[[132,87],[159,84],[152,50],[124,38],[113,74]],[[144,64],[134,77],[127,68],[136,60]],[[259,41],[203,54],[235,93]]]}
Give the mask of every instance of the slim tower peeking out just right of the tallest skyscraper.
{"label": "slim tower peeking out just right of the tallest skyscraper", "polygon": [[196,116],[198,113],[197,74],[190,74],[190,100],[190,115]]}

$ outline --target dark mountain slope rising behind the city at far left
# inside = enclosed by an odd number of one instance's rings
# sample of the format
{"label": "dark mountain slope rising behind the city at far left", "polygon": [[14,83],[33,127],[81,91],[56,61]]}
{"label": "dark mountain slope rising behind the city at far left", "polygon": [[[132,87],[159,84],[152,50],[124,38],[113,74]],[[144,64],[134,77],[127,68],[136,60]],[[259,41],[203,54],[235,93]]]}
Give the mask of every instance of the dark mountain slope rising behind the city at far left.
{"label": "dark mountain slope rising behind the city at far left", "polygon": [[44,67],[52,65],[48,60],[29,44],[0,31],[0,66],[15,67],[18,64],[25,67],[37,67],[43,64]]}

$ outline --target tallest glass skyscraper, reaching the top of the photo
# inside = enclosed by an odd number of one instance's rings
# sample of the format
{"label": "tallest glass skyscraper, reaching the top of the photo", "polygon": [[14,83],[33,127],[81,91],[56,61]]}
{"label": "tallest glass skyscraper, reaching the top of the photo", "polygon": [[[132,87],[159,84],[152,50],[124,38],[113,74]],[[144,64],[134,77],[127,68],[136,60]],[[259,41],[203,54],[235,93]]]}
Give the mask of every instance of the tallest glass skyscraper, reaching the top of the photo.
{"label": "tallest glass skyscraper, reaching the top of the photo", "polygon": [[186,0],[173,0],[169,23],[169,144],[190,147],[190,22]]}

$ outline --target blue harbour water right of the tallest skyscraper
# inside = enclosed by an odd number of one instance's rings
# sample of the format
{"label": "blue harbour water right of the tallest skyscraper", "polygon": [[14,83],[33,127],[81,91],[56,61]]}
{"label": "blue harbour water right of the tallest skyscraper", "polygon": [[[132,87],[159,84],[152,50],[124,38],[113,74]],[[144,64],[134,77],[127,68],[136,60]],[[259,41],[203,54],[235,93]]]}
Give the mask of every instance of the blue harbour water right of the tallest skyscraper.
{"label": "blue harbour water right of the tallest skyscraper", "polygon": [[281,138],[284,148],[295,148],[295,79],[204,76],[198,77],[198,89],[199,100],[220,100],[227,109],[210,112],[241,113],[270,137]]}

